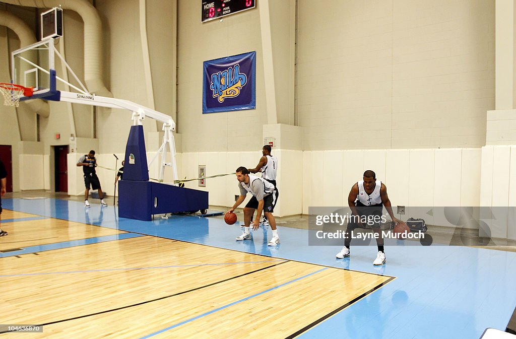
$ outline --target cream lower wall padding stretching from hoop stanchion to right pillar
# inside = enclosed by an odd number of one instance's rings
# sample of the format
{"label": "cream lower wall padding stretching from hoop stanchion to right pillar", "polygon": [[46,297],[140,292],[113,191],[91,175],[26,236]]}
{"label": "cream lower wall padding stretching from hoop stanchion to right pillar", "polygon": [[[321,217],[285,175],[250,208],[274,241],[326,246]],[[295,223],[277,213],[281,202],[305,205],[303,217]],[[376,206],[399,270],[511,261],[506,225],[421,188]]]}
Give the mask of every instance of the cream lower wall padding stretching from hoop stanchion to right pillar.
{"label": "cream lower wall padding stretching from hoop stanchion to right pillar", "polygon": [[[393,205],[479,206],[481,149],[405,150],[275,150],[279,159],[278,215],[308,214],[309,206],[347,206],[351,186],[365,169],[376,172],[388,187]],[[180,176],[232,173],[239,166],[254,167],[260,152],[183,153]],[[208,190],[212,205],[231,206],[238,195],[234,175],[197,181],[186,187]],[[516,191],[514,192],[516,193]]]}

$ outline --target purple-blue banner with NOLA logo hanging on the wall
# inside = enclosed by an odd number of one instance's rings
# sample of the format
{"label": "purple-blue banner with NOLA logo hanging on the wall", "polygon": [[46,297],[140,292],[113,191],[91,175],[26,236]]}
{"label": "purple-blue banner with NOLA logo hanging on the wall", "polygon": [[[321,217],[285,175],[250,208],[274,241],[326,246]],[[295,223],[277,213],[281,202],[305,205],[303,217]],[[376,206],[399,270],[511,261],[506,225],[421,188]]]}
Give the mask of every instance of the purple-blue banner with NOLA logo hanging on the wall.
{"label": "purple-blue banner with NOLA logo hanging on the wall", "polygon": [[204,61],[202,112],[256,108],[256,52]]}

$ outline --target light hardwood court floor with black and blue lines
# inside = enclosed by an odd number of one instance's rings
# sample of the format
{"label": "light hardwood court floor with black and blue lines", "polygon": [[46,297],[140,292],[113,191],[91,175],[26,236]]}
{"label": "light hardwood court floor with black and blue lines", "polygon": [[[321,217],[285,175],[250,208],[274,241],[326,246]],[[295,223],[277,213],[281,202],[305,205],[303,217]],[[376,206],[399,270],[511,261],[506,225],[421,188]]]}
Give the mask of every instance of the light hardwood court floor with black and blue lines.
{"label": "light hardwood court floor with black and blue lines", "polygon": [[[2,217],[2,322],[43,325],[6,338],[295,337],[394,279],[29,213]],[[106,236],[119,238],[94,240]],[[35,247],[44,244],[60,245]]]}

